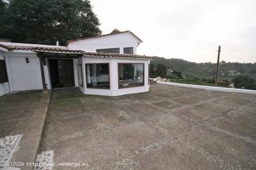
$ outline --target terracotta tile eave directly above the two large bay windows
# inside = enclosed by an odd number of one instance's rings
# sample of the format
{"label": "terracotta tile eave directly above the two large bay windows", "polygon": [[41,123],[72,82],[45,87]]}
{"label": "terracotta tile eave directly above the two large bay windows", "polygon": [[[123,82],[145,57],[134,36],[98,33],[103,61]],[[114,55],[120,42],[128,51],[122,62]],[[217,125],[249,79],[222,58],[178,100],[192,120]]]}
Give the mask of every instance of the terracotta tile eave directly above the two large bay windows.
{"label": "terracotta tile eave directly above the two large bay windows", "polygon": [[101,53],[101,52],[84,52],[85,56],[97,56],[97,57],[123,57],[123,58],[146,58],[152,59],[150,56],[141,56],[135,54],[119,54],[119,53]]}

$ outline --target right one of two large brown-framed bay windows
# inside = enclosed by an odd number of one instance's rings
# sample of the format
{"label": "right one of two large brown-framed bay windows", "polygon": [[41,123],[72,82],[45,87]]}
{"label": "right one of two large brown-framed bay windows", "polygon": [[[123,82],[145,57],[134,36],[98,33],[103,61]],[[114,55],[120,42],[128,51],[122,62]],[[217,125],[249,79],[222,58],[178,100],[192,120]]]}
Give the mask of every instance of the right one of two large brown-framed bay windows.
{"label": "right one of two large brown-framed bay windows", "polygon": [[119,88],[144,86],[144,63],[118,63]]}

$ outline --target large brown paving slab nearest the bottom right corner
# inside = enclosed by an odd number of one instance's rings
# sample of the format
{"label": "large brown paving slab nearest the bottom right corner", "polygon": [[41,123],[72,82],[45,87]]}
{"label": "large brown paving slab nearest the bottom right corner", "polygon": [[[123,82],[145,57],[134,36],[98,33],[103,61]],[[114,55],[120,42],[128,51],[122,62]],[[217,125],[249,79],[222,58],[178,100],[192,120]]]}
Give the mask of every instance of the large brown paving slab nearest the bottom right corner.
{"label": "large brown paving slab nearest the bottom right corner", "polygon": [[256,151],[256,145],[212,129],[202,129],[188,139],[190,143],[235,165],[244,166]]}

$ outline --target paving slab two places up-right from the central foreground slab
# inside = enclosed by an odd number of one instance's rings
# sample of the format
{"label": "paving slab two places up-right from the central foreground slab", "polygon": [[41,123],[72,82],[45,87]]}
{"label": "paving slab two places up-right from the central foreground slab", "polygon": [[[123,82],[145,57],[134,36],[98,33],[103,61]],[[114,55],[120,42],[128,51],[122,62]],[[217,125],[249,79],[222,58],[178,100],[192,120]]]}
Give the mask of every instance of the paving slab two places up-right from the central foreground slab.
{"label": "paving slab two places up-right from the central foreground slab", "polygon": [[208,120],[217,116],[219,113],[201,110],[195,107],[181,108],[175,111],[176,113],[182,114],[184,116],[191,117],[196,120]]}

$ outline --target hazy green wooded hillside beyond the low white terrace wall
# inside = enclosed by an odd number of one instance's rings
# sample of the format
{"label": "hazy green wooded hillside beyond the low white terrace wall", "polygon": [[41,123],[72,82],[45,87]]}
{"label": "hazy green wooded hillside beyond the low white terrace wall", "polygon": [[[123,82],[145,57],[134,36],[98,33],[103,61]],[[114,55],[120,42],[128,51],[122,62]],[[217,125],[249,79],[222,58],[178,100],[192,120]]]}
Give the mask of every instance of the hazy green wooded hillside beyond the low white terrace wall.
{"label": "hazy green wooded hillside beyond the low white terrace wall", "polygon": [[[154,57],[150,68],[150,77],[161,76],[171,82],[214,86],[216,63],[195,63],[183,59]],[[219,65],[220,87],[256,89],[256,63],[226,63]]]}

